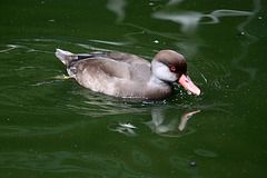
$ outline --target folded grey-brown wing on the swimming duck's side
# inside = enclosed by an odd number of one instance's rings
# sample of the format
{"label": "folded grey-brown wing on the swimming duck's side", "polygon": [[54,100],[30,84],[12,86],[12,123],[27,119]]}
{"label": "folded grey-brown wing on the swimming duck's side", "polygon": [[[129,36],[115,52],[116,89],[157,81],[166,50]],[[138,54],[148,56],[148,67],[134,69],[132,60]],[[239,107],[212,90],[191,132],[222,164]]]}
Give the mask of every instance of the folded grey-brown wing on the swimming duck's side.
{"label": "folded grey-brown wing on the swimming duck's side", "polygon": [[[109,53],[113,55],[113,53]],[[107,56],[95,56],[90,58],[71,61],[69,73],[88,73],[96,78],[101,78],[95,73],[101,73],[105,78],[131,80],[136,82],[147,82],[150,79],[150,63],[147,61],[138,61],[129,58],[109,58]]]}

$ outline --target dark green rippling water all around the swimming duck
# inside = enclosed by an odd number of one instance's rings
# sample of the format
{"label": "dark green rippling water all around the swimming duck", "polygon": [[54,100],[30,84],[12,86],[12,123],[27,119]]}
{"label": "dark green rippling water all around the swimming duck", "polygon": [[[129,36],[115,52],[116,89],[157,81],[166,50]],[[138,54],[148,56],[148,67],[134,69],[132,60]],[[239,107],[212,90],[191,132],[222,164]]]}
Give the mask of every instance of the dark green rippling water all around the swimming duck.
{"label": "dark green rippling water all around the swimming duck", "polygon": [[[267,177],[264,3],[2,1],[0,177]],[[96,93],[60,78],[57,48],[149,61],[172,49],[201,95]]]}

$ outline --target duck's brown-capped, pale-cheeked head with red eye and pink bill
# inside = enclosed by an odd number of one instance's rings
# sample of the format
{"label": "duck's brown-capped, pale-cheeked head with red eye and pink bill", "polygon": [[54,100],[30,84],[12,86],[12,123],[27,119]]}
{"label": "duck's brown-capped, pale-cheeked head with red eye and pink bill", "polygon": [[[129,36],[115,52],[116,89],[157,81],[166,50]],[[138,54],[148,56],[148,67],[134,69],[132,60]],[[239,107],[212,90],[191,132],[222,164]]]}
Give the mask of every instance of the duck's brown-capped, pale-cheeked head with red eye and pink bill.
{"label": "duck's brown-capped, pale-cheeked head with red eye and pink bill", "polygon": [[159,51],[152,62],[152,75],[164,82],[178,82],[187,90],[199,96],[200,90],[195,86],[187,75],[186,59],[172,50]]}

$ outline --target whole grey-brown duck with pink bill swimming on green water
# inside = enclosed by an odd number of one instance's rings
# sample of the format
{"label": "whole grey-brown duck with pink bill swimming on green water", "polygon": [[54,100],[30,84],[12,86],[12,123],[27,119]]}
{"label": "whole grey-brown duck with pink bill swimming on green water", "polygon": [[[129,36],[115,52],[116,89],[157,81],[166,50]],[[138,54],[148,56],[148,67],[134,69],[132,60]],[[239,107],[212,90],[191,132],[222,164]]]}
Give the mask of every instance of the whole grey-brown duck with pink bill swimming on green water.
{"label": "whole grey-brown duck with pink bill swimming on green water", "polygon": [[174,50],[159,51],[151,62],[136,55],[106,51],[75,55],[57,49],[56,56],[66,66],[69,78],[96,92],[154,100],[172,96],[174,83],[178,83],[200,95],[187,73],[186,59]]}

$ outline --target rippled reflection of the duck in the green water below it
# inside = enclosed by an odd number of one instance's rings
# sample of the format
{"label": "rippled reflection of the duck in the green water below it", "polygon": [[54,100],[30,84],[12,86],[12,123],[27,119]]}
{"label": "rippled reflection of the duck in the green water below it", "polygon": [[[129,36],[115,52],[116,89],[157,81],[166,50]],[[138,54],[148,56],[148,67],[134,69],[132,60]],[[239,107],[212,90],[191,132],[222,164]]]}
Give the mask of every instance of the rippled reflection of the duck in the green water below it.
{"label": "rippled reflection of the duck in the green water below it", "polygon": [[[174,105],[168,105],[168,101],[148,102],[148,101],[130,101],[121,100],[109,96],[92,92],[81,89],[73,91],[75,95],[81,95],[86,98],[83,102],[69,105],[73,110],[88,115],[90,117],[106,117],[138,113],[140,117],[149,117],[150,121],[142,121],[146,127],[149,127],[154,132],[166,137],[181,137],[195,131],[191,127],[186,127],[188,120],[200,110],[185,111],[186,108],[174,109]],[[140,113],[140,115],[139,115]],[[150,116],[147,113],[151,113]],[[135,122],[136,118],[123,117],[123,120],[112,120],[107,126],[110,131],[116,131],[126,136],[138,136],[140,132],[139,123]],[[146,119],[147,120],[147,119]],[[141,122],[141,121],[140,121]],[[138,126],[136,126],[138,125]]]}

